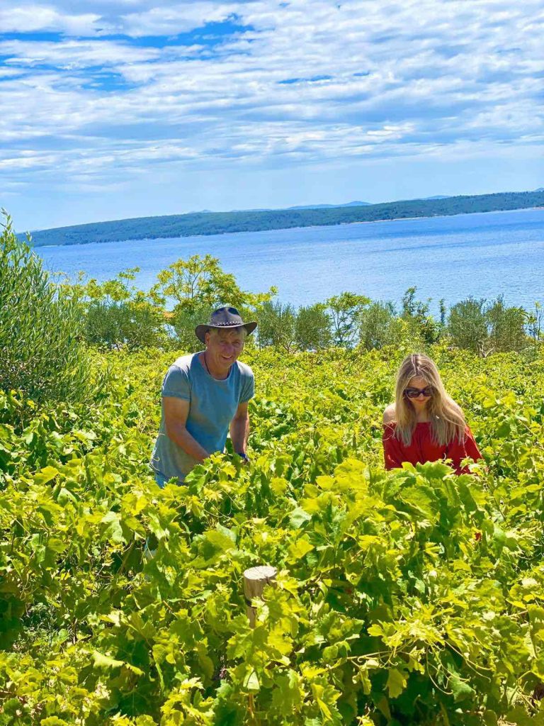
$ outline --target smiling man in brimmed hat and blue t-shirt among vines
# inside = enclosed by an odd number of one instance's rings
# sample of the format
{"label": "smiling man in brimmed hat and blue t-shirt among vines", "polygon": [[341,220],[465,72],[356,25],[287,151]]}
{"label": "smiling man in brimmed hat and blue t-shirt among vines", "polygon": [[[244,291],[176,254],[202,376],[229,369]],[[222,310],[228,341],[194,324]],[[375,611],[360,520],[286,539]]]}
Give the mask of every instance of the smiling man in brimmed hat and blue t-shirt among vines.
{"label": "smiling man in brimmed hat and blue t-shirt among vines", "polygon": [[229,429],[234,451],[247,460],[247,404],[255,392],[255,379],[238,357],[255,327],[256,322],[244,323],[236,308],[219,308],[209,323],[195,328],[205,350],[181,356],[168,369],[151,459],[159,486],[170,478],[181,483],[195,465],[213,452],[222,452]]}

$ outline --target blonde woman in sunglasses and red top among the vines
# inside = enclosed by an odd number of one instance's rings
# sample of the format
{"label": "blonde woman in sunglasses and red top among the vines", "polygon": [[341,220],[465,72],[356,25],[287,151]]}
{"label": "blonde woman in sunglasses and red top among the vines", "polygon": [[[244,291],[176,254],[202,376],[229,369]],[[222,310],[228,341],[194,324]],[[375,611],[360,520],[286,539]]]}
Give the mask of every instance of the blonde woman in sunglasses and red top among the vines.
{"label": "blonde woman in sunglasses and red top among the vines", "polygon": [[446,393],[434,362],[421,354],[405,358],[397,373],[395,403],[384,412],[385,468],[450,459],[456,474],[468,473],[461,461],[482,458],[460,407]]}

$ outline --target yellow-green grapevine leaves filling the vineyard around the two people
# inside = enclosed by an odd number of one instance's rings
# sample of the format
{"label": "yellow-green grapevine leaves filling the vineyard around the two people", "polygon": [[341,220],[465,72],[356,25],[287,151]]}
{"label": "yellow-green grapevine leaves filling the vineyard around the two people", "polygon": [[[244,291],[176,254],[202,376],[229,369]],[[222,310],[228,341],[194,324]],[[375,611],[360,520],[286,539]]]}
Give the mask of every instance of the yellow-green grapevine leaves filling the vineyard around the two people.
{"label": "yellow-green grapevine leaves filling the vineyard around the two people", "polygon": [[[255,351],[251,465],[162,490],[173,353],[110,352],[107,395],[24,427],[33,404],[0,395],[0,723],[542,722],[544,358],[430,352],[474,476],[384,472],[395,348]],[[250,629],[260,563],[279,575]]]}

